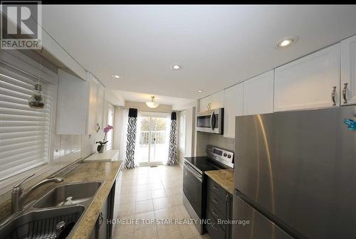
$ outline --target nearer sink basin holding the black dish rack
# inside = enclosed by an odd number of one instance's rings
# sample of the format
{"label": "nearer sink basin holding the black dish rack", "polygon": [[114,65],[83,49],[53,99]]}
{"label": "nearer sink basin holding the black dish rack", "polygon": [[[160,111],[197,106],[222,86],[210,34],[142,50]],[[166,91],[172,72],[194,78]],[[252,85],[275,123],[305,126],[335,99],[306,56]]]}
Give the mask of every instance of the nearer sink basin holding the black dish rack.
{"label": "nearer sink basin holding the black dish rack", "polygon": [[83,205],[77,205],[29,211],[1,227],[0,235],[5,239],[56,238],[56,225],[64,221],[66,225],[73,226],[84,210]]}

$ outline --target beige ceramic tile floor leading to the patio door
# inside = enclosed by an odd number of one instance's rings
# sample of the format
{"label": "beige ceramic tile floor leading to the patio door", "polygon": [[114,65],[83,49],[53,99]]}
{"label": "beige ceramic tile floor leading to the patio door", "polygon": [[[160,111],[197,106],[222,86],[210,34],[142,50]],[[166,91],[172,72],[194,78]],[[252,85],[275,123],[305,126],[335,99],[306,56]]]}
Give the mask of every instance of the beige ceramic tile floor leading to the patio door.
{"label": "beige ceramic tile floor leading to the patio door", "polygon": [[[179,166],[124,170],[118,218],[122,223],[116,225],[113,238],[210,238],[200,235],[195,225],[182,223],[190,218],[182,202],[182,184]],[[180,223],[174,223],[176,219]]]}

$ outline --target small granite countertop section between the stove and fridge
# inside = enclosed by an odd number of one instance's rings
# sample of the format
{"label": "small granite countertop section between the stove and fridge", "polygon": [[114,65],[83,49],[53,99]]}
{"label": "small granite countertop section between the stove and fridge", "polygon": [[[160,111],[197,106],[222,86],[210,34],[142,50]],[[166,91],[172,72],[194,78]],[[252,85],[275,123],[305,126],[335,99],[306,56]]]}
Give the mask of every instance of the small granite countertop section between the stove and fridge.
{"label": "small granite countertop section between the stove and fridge", "polygon": [[234,194],[234,170],[233,169],[220,169],[204,171],[210,179],[214,180],[216,184],[223,187],[228,193]]}

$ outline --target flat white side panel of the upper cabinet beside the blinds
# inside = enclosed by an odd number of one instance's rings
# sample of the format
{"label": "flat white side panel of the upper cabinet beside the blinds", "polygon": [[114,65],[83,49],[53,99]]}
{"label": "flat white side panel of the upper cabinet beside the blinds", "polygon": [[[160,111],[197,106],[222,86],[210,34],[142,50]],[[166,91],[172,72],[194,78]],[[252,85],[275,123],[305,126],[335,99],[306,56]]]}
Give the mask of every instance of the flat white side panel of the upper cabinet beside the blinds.
{"label": "flat white side panel of the upper cabinet beside the blinds", "polygon": [[58,69],[56,134],[85,134],[89,81]]}

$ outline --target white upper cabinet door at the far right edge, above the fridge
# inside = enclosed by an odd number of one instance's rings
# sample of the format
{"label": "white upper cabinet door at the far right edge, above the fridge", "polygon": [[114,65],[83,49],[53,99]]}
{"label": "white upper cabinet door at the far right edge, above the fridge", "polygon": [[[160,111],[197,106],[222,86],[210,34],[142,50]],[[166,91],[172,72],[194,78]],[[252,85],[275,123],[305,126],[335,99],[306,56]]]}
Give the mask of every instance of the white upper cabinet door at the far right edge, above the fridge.
{"label": "white upper cabinet door at the far right edge, above the fridge", "polygon": [[341,104],[356,104],[356,36],[341,42]]}

